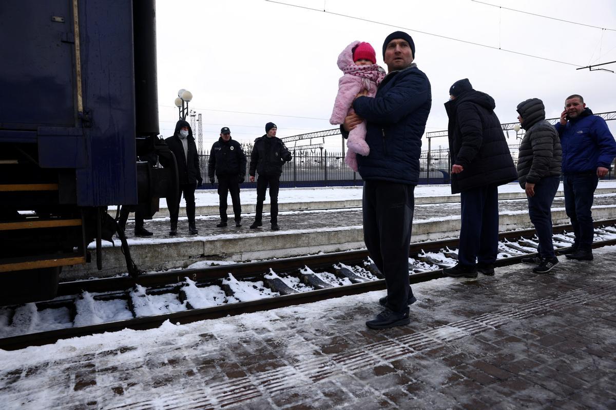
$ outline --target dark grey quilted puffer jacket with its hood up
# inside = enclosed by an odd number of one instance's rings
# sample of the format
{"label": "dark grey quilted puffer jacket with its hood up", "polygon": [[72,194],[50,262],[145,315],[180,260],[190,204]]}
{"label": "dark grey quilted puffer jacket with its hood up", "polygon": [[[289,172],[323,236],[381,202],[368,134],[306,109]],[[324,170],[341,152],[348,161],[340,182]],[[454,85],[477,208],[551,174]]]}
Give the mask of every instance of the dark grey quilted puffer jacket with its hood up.
{"label": "dark grey quilted puffer jacket with its hood up", "polygon": [[545,107],[538,98],[517,105],[526,135],[517,157],[517,179],[522,188],[527,182],[536,184],[546,176],[560,176],[561,140],[553,125],[545,120]]}

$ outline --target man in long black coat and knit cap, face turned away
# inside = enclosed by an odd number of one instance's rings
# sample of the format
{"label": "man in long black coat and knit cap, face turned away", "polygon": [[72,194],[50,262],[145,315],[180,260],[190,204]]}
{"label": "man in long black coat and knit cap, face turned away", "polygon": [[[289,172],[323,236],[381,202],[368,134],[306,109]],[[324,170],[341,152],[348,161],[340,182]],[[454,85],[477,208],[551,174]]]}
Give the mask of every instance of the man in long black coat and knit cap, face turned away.
{"label": "man in long black coat and knit cap, face turned away", "polygon": [[[458,264],[444,269],[450,277],[494,274],[498,254],[498,186],[515,181],[516,167],[507,146],[494,99],[456,81],[445,103],[449,117],[452,194],[460,192]],[[477,264],[476,264],[477,261]]]}

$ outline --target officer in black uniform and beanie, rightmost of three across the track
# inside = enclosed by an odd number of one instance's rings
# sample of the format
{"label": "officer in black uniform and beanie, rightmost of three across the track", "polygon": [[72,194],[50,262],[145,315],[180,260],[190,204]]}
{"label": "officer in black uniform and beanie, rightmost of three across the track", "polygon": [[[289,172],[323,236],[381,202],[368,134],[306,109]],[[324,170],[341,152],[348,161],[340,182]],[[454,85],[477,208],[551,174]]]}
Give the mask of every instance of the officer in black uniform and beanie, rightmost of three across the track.
{"label": "officer in black uniform and beanie, rightmost of three across the track", "polygon": [[273,122],[265,124],[265,135],[254,140],[253,153],[250,156],[250,182],[254,182],[255,172],[259,174],[257,178],[257,207],[254,223],[250,229],[262,226],[263,201],[265,191],[270,187],[270,222],[272,231],[278,231],[278,188],[280,187],[280,174],[282,165],[289,162],[291,152],[286,149],[285,144],[276,138],[278,127]]}

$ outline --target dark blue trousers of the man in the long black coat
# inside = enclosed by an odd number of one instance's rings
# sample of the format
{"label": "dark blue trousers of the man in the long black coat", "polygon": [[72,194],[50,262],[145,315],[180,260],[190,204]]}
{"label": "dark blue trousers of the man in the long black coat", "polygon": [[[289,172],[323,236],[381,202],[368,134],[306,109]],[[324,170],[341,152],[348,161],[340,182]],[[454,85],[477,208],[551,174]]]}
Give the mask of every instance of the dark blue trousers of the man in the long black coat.
{"label": "dark blue trousers of the man in the long black coat", "polygon": [[498,186],[482,186],[460,193],[461,225],[458,262],[493,264],[498,254]]}

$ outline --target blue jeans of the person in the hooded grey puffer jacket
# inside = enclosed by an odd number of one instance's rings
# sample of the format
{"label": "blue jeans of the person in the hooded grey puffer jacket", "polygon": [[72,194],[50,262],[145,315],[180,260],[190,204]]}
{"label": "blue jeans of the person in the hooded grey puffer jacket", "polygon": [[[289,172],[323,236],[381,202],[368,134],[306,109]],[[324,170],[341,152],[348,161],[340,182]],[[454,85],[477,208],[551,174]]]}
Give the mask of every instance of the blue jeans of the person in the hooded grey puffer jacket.
{"label": "blue jeans of the person in the hooded grey puffer jacket", "polygon": [[537,249],[541,258],[556,258],[552,243],[552,202],[560,184],[559,176],[541,178],[535,184],[535,196],[527,197],[529,200],[530,222],[535,226],[539,247]]}

